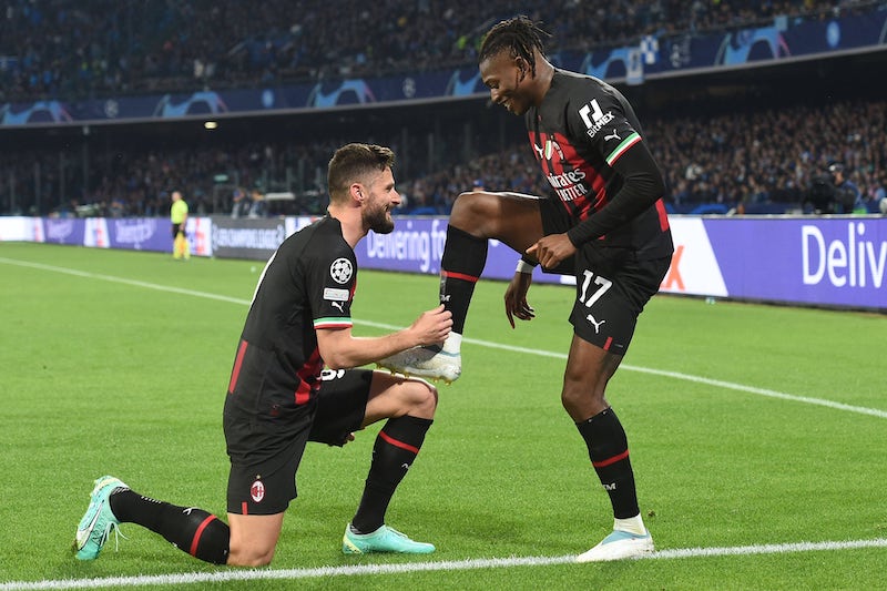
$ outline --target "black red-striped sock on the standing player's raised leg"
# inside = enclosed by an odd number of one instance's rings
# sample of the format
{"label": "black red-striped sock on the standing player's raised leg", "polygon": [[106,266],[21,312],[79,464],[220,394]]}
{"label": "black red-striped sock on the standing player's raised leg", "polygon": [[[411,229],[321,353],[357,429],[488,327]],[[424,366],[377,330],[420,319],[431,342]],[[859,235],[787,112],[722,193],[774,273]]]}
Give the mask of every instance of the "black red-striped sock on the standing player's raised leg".
{"label": "black red-striped sock on the standing player's raised leg", "polygon": [[453,333],[461,335],[465,330],[475,284],[486,264],[487,238],[447,226],[447,244],[440,259],[440,303],[452,313]]}

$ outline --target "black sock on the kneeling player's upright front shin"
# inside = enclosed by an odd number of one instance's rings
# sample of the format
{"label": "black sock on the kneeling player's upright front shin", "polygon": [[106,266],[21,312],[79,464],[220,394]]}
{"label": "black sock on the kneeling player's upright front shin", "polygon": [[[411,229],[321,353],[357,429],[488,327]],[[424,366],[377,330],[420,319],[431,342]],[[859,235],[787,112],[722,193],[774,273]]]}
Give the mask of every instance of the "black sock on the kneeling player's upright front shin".
{"label": "black sock on the kneeling player's upright front shin", "polygon": [[357,533],[371,533],[385,524],[385,512],[395,489],[412,466],[432,422],[431,419],[407,415],[388,419],[379,431],[373,446],[373,463],[364,497],[351,520]]}

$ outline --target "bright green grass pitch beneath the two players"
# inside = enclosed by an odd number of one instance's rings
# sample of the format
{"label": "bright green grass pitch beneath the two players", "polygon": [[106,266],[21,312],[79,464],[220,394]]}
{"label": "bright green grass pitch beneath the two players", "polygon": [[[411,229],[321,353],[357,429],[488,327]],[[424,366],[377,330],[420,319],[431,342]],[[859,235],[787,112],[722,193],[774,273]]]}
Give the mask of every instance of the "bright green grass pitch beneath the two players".
{"label": "bright green grass pitch beneath the two players", "polygon": [[[572,291],[533,286],[537,318],[511,330],[495,282],[478,285],[462,378],[440,386],[388,513],[435,554],[340,552],[376,425],[343,449],[308,448],[269,570],[225,580],[237,571],[132,524],[119,549],[112,537],[77,561],[104,473],[224,517],[222,404],[261,266],[0,244],[0,591],[884,588],[887,316],[655,297],[608,391],[659,553],[571,564],[612,524],[559,400]],[[437,285],[361,271],[355,334],[406,326]]]}

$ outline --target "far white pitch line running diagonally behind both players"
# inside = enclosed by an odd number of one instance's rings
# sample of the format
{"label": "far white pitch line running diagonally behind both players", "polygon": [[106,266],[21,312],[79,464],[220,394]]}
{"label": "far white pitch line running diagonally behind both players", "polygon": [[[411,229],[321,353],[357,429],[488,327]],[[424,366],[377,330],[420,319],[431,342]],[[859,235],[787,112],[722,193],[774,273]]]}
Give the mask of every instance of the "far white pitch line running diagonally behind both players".
{"label": "far white pitch line running diagonally behind both players", "polygon": [[[194,289],[183,289],[181,287],[171,287],[171,286],[159,285],[159,284],[154,284],[154,283],[140,282],[140,281],[135,281],[135,279],[126,279],[126,278],[123,278],[123,277],[115,277],[113,275],[101,275],[101,274],[98,274],[98,273],[89,273],[89,272],[84,272],[84,271],[74,271],[74,269],[64,268],[64,267],[57,267],[57,266],[52,266],[52,265],[43,265],[43,264],[40,264],[40,263],[30,263],[30,262],[26,262],[26,261],[17,261],[17,259],[13,259],[13,258],[4,258],[4,257],[0,257],[0,263],[7,263],[7,264],[10,264],[10,265],[18,265],[18,266],[22,266],[22,267],[31,267],[31,268],[37,268],[37,269],[41,269],[41,271],[50,271],[50,272],[54,272],[54,273],[64,273],[67,275],[74,275],[74,276],[78,276],[78,277],[85,277],[85,278],[91,278],[91,279],[101,279],[101,281],[119,283],[119,284],[123,284],[123,285],[132,285],[134,287],[143,287],[143,288],[146,288],[146,289],[156,289],[159,292],[169,292],[169,293],[173,293],[173,294],[188,295],[188,296],[193,296],[193,297],[203,297],[203,298],[206,298],[206,299],[215,299],[215,300],[218,300],[218,302],[228,302],[228,303],[232,303],[232,304],[242,304],[244,306],[248,306],[249,305],[249,300],[248,299],[223,296],[223,295],[218,295],[218,294],[211,294],[208,292],[197,292],[197,291],[194,291]],[[369,322],[369,320],[355,319],[354,323],[357,324],[357,325],[370,326],[370,327],[374,327],[374,328],[381,328],[381,329],[385,329],[385,330],[400,330],[402,328],[402,326],[392,326],[392,325],[389,325],[389,324],[374,323],[374,322]],[[465,343],[470,343],[472,345],[478,345],[478,346],[487,347],[487,348],[491,348],[491,349],[500,349],[500,350],[508,350],[508,351],[512,351],[512,353],[536,355],[538,357],[553,357],[553,358],[557,358],[557,359],[567,359],[567,355],[563,354],[563,353],[553,353],[553,351],[548,351],[548,350],[542,350],[542,349],[531,349],[531,348],[526,348],[526,347],[516,347],[513,345],[504,345],[502,343],[493,343],[493,342],[490,342],[490,340],[478,340],[478,339],[473,339],[473,338],[463,338],[462,340]],[[822,407],[830,408],[833,410],[845,410],[847,412],[856,412],[857,415],[867,415],[867,416],[870,416],[870,417],[877,417],[877,418],[881,418],[881,419],[887,419],[887,410],[881,410],[879,408],[868,408],[868,407],[863,407],[863,406],[845,405],[844,403],[836,403],[834,400],[826,400],[824,398],[813,398],[813,397],[809,397],[809,396],[797,396],[797,395],[794,395],[794,394],[787,394],[787,393],[783,393],[783,391],[778,391],[778,390],[771,390],[771,389],[767,389],[767,388],[757,388],[757,387],[754,387],[754,386],[746,386],[744,384],[736,384],[736,383],[733,383],[733,381],[724,381],[724,380],[721,380],[721,379],[713,379],[713,378],[706,378],[706,377],[702,377],[702,376],[694,376],[694,375],[691,375],[691,374],[682,374],[680,371],[669,371],[669,370],[665,370],[665,369],[653,369],[653,368],[650,368],[650,367],[640,367],[640,366],[634,366],[634,365],[630,365],[630,364],[622,364],[620,366],[620,368],[625,369],[628,371],[638,371],[638,373],[641,373],[641,374],[651,374],[651,375],[656,375],[656,376],[662,376],[662,377],[667,377],[667,378],[673,378],[673,379],[681,379],[681,380],[684,380],[684,381],[691,381],[691,383],[694,383],[694,384],[705,384],[707,386],[714,386],[716,388],[736,390],[736,391],[742,391],[742,393],[746,393],[746,394],[755,394],[755,395],[758,395],[758,396],[766,396],[768,398],[778,398],[778,399],[782,399],[782,400],[791,400],[793,403],[802,403],[802,404],[807,404],[807,405],[822,406]]]}

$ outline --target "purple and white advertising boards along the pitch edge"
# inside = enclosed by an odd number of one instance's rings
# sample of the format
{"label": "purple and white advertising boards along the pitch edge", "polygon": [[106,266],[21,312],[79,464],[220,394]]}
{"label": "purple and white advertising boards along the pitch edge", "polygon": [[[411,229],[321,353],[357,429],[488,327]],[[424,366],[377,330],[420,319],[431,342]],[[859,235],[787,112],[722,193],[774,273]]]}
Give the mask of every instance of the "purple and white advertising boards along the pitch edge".
{"label": "purple and white advertising boards along the pitch edge", "polygon": [[[313,217],[190,217],[195,256],[265,261]],[[887,313],[887,217],[670,216],[675,254],[662,292]],[[446,217],[399,217],[357,247],[361,268],[437,275]],[[165,218],[0,217],[0,242],[172,252]],[[518,256],[490,241],[483,277],[510,279]],[[533,281],[573,284],[537,268]]]}

